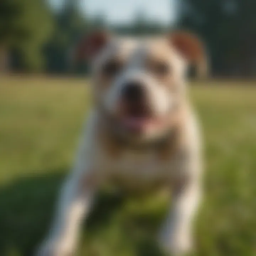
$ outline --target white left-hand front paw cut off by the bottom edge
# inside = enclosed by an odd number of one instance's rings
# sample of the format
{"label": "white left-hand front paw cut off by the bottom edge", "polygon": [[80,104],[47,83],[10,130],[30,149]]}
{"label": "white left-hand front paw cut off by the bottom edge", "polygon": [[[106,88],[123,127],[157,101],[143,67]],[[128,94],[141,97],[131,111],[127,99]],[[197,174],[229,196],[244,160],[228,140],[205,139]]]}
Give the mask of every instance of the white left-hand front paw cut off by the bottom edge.
{"label": "white left-hand front paw cut off by the bottom edge", "polygon": [[35,256],[74,256],[74,248],[68,243],[48,240],[39,247]]}

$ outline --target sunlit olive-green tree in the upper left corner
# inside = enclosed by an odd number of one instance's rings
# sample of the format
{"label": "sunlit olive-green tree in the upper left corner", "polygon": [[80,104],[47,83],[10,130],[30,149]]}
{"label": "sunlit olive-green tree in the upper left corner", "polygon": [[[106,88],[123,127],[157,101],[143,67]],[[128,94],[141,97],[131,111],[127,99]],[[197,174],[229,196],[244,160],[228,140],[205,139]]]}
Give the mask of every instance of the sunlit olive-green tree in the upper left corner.
{"label": "sunlit olive-green tree in the upper left corner", "polygon": [[42,45],[53,28],[52,14],[44,0],[0,1],[0,48],[13,54],[15,68],[43,68]]}

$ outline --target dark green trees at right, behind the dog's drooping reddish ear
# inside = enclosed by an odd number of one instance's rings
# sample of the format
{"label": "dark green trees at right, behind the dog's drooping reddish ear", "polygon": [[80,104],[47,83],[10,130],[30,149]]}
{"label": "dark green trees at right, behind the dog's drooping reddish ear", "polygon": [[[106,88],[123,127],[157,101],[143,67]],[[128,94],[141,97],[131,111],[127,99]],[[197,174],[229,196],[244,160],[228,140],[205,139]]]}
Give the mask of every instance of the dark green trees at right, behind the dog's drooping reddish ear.
{"label": "dark green trees at right, behind the dog's drooping reddish ear", "polygon": [[181,0],[179,3],[178,26],[204,39],[213,74],[255,74],[254,0]]}

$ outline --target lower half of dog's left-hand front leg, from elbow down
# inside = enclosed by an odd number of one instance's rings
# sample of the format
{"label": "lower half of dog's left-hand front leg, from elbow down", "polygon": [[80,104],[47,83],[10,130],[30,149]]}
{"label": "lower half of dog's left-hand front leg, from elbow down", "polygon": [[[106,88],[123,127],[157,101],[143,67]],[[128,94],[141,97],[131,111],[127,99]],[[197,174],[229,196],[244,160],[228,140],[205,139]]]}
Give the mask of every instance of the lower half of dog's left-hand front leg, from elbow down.
{"label": "lower half of dog's left-hand front leg, from elbow down", "polygon": [[89,174],[71,174],[59,199],[57,214],[48,238],[37,252],[38,256],[73,255],[81,220],[90,211],[95,184]]}

